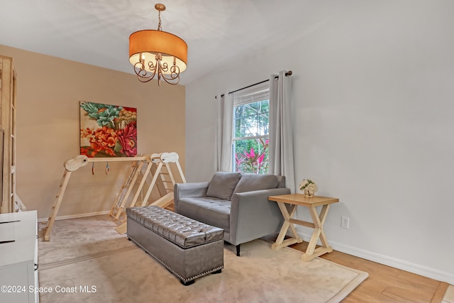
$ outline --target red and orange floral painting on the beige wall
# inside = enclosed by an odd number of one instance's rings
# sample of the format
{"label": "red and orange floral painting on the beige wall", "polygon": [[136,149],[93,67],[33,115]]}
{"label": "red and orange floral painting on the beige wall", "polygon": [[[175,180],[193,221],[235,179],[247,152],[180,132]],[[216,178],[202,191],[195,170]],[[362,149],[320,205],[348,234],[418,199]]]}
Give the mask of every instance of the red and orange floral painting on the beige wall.
{"label": "red and orange floral painting on the beige wall", "polygon": [[81,101],[80,154],[89,158],[137,155],[137,109]]}

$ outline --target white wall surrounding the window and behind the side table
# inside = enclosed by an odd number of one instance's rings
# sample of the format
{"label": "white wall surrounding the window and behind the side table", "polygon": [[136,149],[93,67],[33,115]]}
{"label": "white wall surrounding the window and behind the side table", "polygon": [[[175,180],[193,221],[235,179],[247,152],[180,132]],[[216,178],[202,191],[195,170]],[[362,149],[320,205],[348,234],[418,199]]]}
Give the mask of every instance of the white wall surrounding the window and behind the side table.
{"label": "white wall surrounding the window and behind the side table", "polygon": [[214,172],[214,96],[292,70],[296,180],[340,199],[333,248],[453,284],[454,1],[343,2],[187,85],[187,180]]}

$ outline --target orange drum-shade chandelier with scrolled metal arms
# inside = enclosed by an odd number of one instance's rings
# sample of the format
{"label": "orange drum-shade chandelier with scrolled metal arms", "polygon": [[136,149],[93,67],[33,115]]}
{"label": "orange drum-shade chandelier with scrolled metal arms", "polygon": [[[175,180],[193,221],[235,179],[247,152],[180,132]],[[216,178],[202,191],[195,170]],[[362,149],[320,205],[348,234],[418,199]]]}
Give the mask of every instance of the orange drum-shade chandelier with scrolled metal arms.
{"label": "orange drum-shade chandelier with scrolled metal arms", "polygon": [[186,70],[187,44],[162,31],[161,11],[165,11],[165,5],[156,4],[155,9],[159,15],[157,30],[136,31],[129,36],[129,62],[140,82],[149,82],[156,76],[157,85],[161,79],[178,84],[179,73]]}

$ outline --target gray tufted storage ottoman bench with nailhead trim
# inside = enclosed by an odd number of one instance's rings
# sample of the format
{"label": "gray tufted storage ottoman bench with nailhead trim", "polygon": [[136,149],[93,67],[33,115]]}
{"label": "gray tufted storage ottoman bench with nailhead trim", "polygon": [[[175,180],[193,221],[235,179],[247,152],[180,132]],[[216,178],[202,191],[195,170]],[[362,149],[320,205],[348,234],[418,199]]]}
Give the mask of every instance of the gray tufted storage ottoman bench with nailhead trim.
{"label": "gray tufted storage ottoman bench with nailhead trim", "polygon": [[224,267],[223,229],[159,206],[126,209],[128,238],[189,285]]}

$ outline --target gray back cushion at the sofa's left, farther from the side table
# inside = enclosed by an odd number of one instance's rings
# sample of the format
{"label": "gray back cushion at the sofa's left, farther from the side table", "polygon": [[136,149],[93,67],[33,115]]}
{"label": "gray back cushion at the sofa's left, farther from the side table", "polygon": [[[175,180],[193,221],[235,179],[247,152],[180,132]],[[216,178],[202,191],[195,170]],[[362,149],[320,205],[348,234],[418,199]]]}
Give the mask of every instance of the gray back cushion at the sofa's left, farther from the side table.
{"label": "gray back cushion at the sofa's left, farther from the side table", "polygon": [[208,185],[206,196],[230,200],[240,178],[240,172],[216,172]]}

